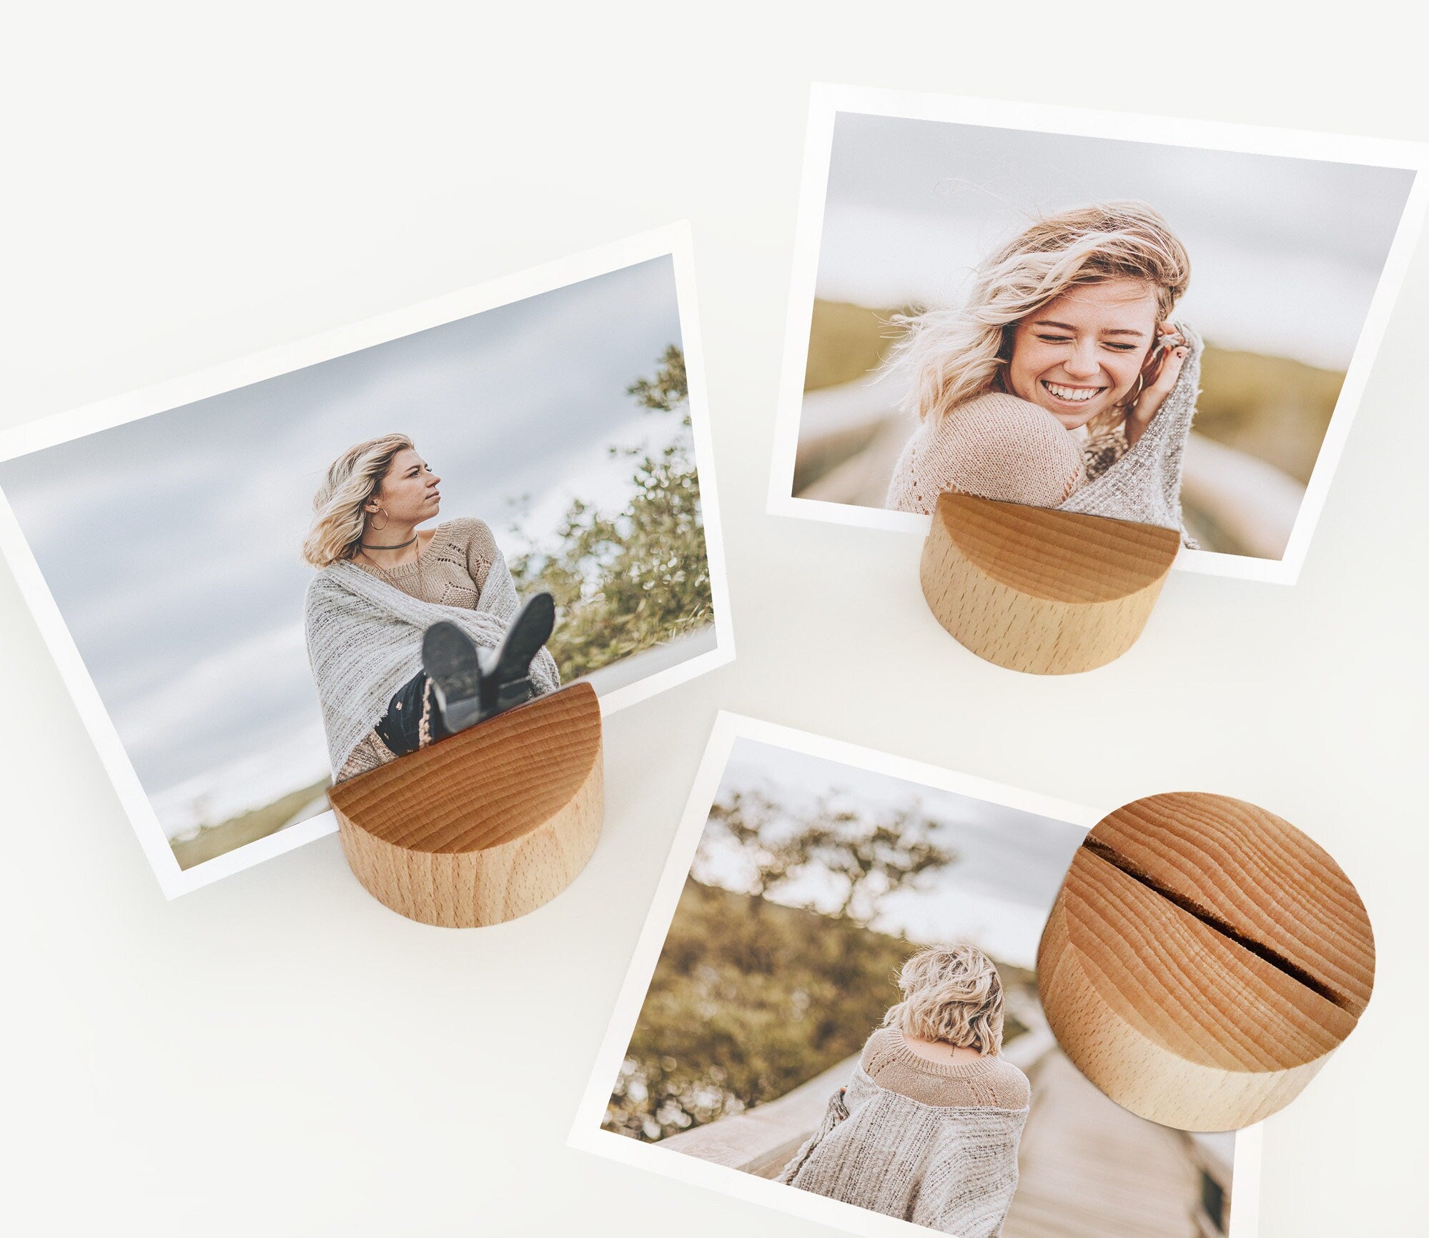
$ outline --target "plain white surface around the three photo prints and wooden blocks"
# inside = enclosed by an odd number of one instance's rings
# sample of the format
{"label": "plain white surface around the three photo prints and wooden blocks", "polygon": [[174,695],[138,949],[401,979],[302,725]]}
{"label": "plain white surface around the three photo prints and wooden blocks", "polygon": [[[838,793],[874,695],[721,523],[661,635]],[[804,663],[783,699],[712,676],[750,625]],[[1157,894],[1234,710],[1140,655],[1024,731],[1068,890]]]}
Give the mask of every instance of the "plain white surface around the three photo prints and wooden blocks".
{"label": "plain white surface around the three photo prints and wooden blocks", "polygon": [[[1379,978],[1355,1035],[1266,1124],[1262,1234],[1423,1232],[1429,250],[1299,584],[1175,574],[1102,671],[1023,677],[953,644],[919,594],[916,537],[763,514],[812,80],[1422,140],[1410,11],[10,16],[0,420],[689,217],[739,660],[610,721],[606,834],[526,920],[409,924],[357,887],[336,838],[169,904],[0,573],[0,1224],[830,1232],[564,1147],[723,705],[1099,808],[1242,795],[1312,834],[1369,907]],[[90,553],[111,537],[96,528]]]}

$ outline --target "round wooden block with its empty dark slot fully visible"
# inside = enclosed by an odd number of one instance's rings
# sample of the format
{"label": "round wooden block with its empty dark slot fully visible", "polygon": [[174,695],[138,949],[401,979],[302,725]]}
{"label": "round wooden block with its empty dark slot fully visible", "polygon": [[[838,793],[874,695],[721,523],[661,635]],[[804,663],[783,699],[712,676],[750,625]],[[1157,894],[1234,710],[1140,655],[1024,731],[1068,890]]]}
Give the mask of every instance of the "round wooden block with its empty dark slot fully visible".
{"label": "round wooden block with its empty dark slot fully visible", "polygon": [[1186,1131],[1289,1104],[1375,982],[1369,917],[1288,821],[1225,795],[1152,795],[1077,848],[1037,948],[1047,1022],[1123,1108]]}

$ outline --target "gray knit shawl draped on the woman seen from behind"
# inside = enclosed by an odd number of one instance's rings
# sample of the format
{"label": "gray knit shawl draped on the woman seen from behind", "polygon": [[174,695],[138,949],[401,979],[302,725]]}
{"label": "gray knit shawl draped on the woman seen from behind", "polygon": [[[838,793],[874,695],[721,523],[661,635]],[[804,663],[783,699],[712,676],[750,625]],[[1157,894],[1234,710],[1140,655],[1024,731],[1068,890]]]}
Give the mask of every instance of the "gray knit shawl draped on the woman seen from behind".
{"label": "gray knit shawl draped on the woman seen from behind", "polygon": [[779,1181],[940,1234],[996,1238],[1017,1189],[1026,1121],[1026,1105],[916,1101],[860,1064]]}

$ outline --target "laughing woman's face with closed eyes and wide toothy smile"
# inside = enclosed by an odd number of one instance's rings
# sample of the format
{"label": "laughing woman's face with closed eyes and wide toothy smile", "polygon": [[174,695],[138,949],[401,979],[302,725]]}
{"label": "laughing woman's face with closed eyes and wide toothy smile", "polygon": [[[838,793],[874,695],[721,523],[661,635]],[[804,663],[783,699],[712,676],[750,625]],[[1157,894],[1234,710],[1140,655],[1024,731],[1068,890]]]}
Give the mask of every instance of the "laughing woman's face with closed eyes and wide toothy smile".
{"label": "laughing woman's face with closed eyes and wide toothy smile", "polygon": [[1155,337],[1147,284],[1079,284],[1017,323],[1007,388],[1075,430],[1132,394]]}

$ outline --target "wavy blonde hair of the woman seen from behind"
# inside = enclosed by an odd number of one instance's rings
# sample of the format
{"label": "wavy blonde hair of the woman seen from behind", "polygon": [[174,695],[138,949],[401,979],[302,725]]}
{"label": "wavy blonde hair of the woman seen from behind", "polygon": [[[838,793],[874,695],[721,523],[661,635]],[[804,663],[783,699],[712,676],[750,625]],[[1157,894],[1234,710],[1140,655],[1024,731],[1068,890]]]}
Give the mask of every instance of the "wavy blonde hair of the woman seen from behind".
{"label": "wavy blonde hair of the woman seen from behind", "polygon": [[883,1027],[983,1054],[1002,1050],[1002,977],[976,945],[920,950],[903,964],[897,987],[903,1001],[883,1015]]}

